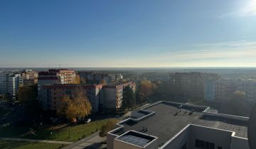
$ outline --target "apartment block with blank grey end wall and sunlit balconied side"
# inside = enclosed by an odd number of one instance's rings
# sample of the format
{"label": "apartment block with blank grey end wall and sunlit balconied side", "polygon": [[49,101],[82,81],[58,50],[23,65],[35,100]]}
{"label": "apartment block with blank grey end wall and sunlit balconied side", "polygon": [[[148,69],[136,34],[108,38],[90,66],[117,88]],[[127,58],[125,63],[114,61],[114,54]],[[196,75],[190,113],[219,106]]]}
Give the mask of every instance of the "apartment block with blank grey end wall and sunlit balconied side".
{"label": "apartment block with blank grey end wall and sunlit balconied side", "polygon": [[136,91],[135,82],[114,82],[103,87],[103,107],[105,109],[119,109],[122,106],[123,89],[130,87],[133,92]]}

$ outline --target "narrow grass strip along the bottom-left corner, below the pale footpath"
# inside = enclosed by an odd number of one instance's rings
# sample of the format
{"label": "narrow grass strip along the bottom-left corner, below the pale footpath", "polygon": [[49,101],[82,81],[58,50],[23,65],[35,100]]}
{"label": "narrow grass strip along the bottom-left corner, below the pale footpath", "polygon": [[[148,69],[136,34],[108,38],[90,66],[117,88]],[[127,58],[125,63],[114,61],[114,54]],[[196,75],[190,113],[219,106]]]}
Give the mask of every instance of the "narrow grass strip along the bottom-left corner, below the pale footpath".
{"label": "narrow grass strip along the bottom-left corner, below the pale footpath", "polygon": [[[16,140],[0,140],[1,149],[55,149],[60,147],[61,144],[55,143],[34,143],[34,142],[24,142]],[[64,145],[65,146],[65,145]]]}

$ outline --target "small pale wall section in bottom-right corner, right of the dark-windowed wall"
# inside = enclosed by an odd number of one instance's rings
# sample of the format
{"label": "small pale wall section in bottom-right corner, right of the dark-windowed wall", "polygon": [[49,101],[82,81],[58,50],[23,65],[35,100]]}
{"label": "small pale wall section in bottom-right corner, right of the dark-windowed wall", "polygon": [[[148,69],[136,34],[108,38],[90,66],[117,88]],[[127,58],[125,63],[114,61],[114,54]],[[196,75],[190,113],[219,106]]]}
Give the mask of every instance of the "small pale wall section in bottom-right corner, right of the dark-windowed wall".
{"label": "small pale wall section in bottom-right corner, right of the dark-windowed wall", "polygon": [[230,149],[250,149],[248,139],[233,136]]}

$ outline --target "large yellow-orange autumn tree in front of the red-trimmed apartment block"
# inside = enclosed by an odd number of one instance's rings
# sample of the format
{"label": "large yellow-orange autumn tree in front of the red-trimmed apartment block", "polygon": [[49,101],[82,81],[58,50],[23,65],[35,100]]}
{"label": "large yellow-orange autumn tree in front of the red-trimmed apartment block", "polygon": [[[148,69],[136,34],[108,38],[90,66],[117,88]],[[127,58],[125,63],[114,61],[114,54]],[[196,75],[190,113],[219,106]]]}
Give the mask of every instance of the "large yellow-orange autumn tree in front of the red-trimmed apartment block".
{"label": "large yellow-orange autumn tree in front of the red-trimmed apartment block", "polygon": [[83,89],[76,89],[72,96],[64,96],[63,109],[57,111],[59,116],[65,116],[71,120],[72,118],[84,118],[91,114],[92,106],[88,101]]}

